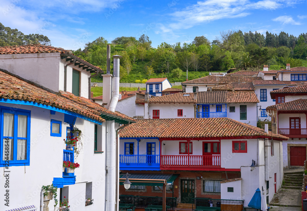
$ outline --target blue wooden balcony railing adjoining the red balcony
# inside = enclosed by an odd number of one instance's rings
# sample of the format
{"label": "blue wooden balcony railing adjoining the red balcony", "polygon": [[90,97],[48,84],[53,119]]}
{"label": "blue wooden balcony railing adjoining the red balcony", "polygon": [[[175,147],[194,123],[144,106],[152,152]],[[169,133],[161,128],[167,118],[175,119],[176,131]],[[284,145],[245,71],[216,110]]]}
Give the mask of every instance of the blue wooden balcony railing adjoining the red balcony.
{"label": "blue wooden balcony railing adjoining the red balcony", "polygon": [[160,155],[119,155],[120,170],[160,170]]}

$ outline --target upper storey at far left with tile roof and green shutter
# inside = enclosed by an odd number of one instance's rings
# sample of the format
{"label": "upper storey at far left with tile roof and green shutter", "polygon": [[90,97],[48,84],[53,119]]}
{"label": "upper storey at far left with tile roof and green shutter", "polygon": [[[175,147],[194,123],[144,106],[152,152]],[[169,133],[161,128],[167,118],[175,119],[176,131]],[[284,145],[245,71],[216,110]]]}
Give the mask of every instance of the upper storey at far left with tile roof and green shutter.
{"label": "upper storey at far left with tile roof and green shutter", "polygon": [[[90,76],[103,71],[63,48],[41,44],[0,47],[0,68],[46,89],[90,98]],[[95,74],[95,75],[97,75]]]}

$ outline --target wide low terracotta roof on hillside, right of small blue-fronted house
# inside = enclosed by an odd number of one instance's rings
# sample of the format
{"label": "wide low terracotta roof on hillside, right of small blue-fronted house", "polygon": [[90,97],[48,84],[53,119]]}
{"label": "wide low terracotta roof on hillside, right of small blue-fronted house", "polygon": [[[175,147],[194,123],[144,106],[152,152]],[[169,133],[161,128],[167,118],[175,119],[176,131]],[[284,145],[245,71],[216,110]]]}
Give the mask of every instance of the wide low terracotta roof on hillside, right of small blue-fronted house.
{"label": "wide low terracotta roof on hillside, right of small blue-fronted house", "polygon": [[254,80],[262,80],[261,77],[246,76],[216,76],[208,75],[203,78],[193,79],[182,82],[181,84],[228,84],[231,82],[252,82]]}

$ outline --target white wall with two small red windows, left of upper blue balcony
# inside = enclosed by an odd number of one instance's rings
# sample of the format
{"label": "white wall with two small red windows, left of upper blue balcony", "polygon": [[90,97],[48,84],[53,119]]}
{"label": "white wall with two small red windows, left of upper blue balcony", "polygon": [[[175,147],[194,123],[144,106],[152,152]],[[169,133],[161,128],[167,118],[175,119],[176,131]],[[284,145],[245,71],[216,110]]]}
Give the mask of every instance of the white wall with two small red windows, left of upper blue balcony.
{"label": "white wall with two small red windows, left of upper blue balcony", "polygon": [[[182,117],[178,117],[178,109],[182,109]],[[192,103],[150,103],[150,119],[153,118],[153,110],[160,111],[160,119],[194,118],[194,105]]]}

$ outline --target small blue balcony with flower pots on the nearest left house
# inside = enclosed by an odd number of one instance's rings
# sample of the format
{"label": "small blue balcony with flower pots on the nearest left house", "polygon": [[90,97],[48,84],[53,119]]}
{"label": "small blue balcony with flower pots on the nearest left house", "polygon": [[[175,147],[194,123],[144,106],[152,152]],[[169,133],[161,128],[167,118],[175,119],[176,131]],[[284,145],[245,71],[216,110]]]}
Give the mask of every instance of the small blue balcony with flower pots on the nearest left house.
{"label": "small blue balcony with flower pots on the nearest left house", "polygon": [[[63,150],[63,161],[74,162],[74,151],[64,149]],[[60,178],[54,177],[52,183],[58,188],[62,188],[64,185],[73,185],[76,183],[75,173],[66,173],[64,171],[63,176]]]}

